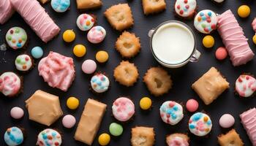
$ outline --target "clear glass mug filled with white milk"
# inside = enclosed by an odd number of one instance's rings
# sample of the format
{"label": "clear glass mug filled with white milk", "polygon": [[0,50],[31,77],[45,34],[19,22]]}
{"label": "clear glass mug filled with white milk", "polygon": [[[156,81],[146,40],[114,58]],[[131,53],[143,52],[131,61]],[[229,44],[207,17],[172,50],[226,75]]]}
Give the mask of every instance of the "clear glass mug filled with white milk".
{"label": "clear glass mug filled with white milk", "polygon": [[189,61],[197,62],[201,53],[196,49],[196,38],[187,24],[177,20],[161,23],[148,31],[151,53],[168,68],[178,68]]}

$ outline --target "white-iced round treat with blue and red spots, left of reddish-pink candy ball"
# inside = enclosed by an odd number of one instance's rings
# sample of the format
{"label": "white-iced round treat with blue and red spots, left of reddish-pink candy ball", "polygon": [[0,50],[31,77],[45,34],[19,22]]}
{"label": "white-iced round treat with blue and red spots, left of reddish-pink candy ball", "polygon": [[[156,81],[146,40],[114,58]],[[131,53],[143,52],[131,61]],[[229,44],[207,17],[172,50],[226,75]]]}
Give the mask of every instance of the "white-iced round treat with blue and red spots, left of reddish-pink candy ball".
{"label": "white-iced round treat with blue and red spots, left of reddish-pink candy ball", "polygon": [[176,101],[165,101],[160,107],[162,121],[176,125],[184,117],[183,107]]}

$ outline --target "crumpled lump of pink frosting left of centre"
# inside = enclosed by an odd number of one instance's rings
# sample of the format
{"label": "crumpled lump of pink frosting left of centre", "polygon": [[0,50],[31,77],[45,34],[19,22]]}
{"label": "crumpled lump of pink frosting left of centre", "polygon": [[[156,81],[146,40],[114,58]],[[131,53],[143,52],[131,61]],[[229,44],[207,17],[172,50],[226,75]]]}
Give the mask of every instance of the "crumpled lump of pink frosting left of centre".
{"label": "crumpled lump of pink frosting left of centre", "polygon": [[39,75],[53,88],[67,91],[75,79],[73,59],[50,51],[38,64]]}

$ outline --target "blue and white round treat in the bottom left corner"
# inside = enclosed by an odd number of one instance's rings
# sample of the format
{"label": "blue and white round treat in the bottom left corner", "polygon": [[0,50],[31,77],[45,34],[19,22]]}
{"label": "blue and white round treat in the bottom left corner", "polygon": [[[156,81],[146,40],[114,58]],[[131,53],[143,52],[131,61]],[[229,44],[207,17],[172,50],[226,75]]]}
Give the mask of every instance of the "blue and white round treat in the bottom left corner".
{"label": "blue and white round treat in the bottom left corner", "polygon": [[23,132],[18,127],[7,128],[4,133],[4,142],[9,146],[20,145],[23,139]]}

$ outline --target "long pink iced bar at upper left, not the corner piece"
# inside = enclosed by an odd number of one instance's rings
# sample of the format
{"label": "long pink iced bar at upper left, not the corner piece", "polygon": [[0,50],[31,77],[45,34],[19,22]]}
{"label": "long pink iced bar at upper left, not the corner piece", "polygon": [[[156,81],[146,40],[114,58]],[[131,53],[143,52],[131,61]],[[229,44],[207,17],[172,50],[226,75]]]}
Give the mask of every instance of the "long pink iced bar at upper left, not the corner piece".
{"label": "long pink iced bar at upper left, not the corner piece", "polygon": [[11,3],[43,42],[48,42],[59,34],[59,26],[37,0],[11,0]]}

